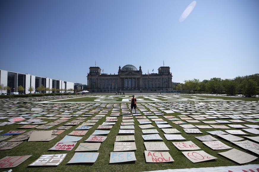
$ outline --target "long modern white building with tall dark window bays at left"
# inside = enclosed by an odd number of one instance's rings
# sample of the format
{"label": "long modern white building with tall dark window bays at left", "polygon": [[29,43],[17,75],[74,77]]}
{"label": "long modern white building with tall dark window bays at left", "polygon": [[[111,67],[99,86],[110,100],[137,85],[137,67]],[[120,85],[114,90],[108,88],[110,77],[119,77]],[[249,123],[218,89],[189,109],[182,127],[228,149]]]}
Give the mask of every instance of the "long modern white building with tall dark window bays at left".
{"label": "long modern white building with tall dark window bays at left", "polygon": [[[31,74],[22,74],[18,72],[11,72],[0,69],[0,84],[2,86],[9,86],[10,90],[0,90],[1,93],[10,93],[10,92],[18,92],[17,87],[22,86],[24,88],[23,93],[28,94],[30,91],[28,89],[30,87],[34,87],[36,90],[37,87],[43,85],[45,88],[56,88],[59,89],[60,93],[64,93],[68,89],[74,89],[73,82],[67,82],[59,79],[51,79],[48,77],[39,77]],[[34,90],[34,91],[35,91]],[[32,91],[32,93],[34,92]],[[45,91],[46,93],[46,91]]]}

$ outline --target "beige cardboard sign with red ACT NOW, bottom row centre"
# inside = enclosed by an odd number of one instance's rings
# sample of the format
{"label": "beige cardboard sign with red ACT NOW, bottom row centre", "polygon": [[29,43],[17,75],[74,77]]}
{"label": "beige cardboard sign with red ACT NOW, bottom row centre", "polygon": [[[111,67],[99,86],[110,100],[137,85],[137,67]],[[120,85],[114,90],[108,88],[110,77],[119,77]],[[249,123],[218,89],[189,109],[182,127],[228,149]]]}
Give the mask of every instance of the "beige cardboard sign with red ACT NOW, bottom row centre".
{"label": "beige cardboard sign with red ACT NOW, bottom row centre", "polygon": [[153,152],[145,150],[145,158],[147,163],[166,163],[174,161],[169,152]]}

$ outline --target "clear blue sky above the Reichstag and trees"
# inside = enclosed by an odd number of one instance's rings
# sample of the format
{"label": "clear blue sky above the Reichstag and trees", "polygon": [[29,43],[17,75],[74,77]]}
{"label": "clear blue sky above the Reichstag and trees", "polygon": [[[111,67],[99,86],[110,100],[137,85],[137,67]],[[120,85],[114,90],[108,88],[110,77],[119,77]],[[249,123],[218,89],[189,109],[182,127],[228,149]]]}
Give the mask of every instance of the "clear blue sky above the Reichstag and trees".
{"label": "clear blue sky above the Reichstag and trees", "polygon": [[170,66],[173,82],[259,73],[259,1],[0,1],[0,69],[87,83],[89,67],[143,74]]}

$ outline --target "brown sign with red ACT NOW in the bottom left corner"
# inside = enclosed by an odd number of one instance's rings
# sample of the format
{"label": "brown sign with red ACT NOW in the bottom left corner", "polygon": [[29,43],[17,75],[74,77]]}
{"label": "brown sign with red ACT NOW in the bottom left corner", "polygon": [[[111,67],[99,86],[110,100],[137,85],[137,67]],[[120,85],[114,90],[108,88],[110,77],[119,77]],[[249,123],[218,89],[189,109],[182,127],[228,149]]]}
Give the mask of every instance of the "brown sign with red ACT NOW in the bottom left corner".
{"label": "brown sign with red ACT NOW in the bottom left corner", "polygon": [[14,168],[21,163],[23,163],[25,160],[30,158],[31,155],[25,155],[25,156],[6,156],[0,160],[0,168]]}

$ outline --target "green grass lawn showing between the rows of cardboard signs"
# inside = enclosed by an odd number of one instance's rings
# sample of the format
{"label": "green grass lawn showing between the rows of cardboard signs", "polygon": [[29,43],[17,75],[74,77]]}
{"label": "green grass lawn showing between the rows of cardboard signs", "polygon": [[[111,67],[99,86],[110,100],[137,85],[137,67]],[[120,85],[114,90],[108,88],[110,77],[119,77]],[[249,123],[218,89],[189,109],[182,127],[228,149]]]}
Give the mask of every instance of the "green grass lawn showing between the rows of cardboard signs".
{"label": "green grass lawn showing between the rows of cardboard signs", "polygon": [[[89,104],[89,102],[96,102],[98,104],[118,104],[119,106],[122,105],[122,103],[109,103],[109,102],[98,102],[95,101],[96,97],[100,96],[100,95],[86,95],[84,97],[80,97],[80,98],[76,98],[76,99],[67,99],[67,100],[56,100],[54,102],[64,102],[64,103],[56,103],[55,106],[60,106],[61,108],[64,107],[66,108],[66,106],[71,103],[65,103],[65,102],[85,102],[85,103],[72,103],[74,106],[82,106],[86,108],[86,105]],[[184,95],[181,96],[181,98],[190,98],[190,96],[193,95]],[[223,99],[223,100],[244,100],[244,101],[250,101],[252,104],[258,103],[259,98],[233,98],[233,97],[221,97],[221,96],[203,96],[203,95],[197,95],[197,97],[202,97],[205,99]],[[116,97],[116,96],[115,96]],[[156,101],[151,101],[148,100],[148,98],[145,98],[145,95],[136,95],[137,100],[139,99],[144,99],[144,101],[147,102],[141,102],[141,101],[137,101],[137,109],[139,108],[139,106],[141,105],[145,105],[147,103],[149,103],[148,101],[150,101],[151,103],[161,103],[161,102],[156,102]],[[116,98],[118,98],[118,102],[121,101],[122,98],[120,98],[120,96],[117,96]],[[130,97],[129,97],[130,98]],[[163,100],[165,102],[171,103],[173,101],[171,100],[164,100],[163,97],[157,96],[158,100]],[[201,99],[201,102],[205,102],[205,99]],[[4,101],[4,100],[1,100]],[[187,102],[187,101],[183,101],[183,102]],[[218,101],[216,101],[218,102]],[[228,103],[240,103],[240,101],[224,101],[223,103],[228,104]],[[241,101],[243,102],[243,101]],[[93,103],[93,104],[96,104]],[[128,104],[128,102],[125,102],[126,104]],[[125,104],[123,103],[123,105]],[[179,102],[176,102],[179,103]],[[206,101],[206,103],[211,103],[209,101]],[[223,105],[222,103],[222,105]],[[197,101],[191,101],[188,104],[194,105],[197,104]],[[212,103],[213,104],[213,103]],[[26,108],[28,106],[35,106],[38,108],[43,108],[46,111],[49,110],[47,109],[48,106],[54,106],[53,103],[51,104],[42,104],[42,103],[32,103],[32,104],[19,104],[15,107],[16,109],[23,109]],[[166,105],[163,104],[163,105]],[[182,105],[184,105],[184,103],[182,103]],[[240,104],[243,105],[243,104]],[[96,109],[98,108],[99,105],[95,108],[92,109]],[[106,107],[106,106],[105,106]],[[105,107],[103,109],[105,109]],[[202,108],[202,106],[200,106]],[[60,108],[60,109],[61,109]],[[242,106],[242,108],[244,108],[244,106]],[[247,109],[249,109],[251,107],[247,107]],[[253,108],[255,108],[255,106],[253,106]],[[0,107],[1,112],[5,111],[5,109],[8,109],[7,107]],[[71,106],[67,108],[72,109]],[[84,108],[82,108],[84,109]],[[80,111],[82,109],[76,109],[76,111]],[[150,111],[150,108],[146,108]],[[177,108],[179,110],[179,108]],[[159,109],[158,109],[159,110]],[[180,109],[181,110],[181,109]],[[258,106],[257,106],[257,110],[258,110]],[[161,111],[161,110],[159,110]],[[74,113],[73,112],[73,113]],[[89,112],[89,111],[87,111]],[[120,110],[120,112],[122,112]],[[184,111],[186,112],[186,111]],[[83,113],[82,113],[83,114]],[[87,120],[91,119],[92,117],[96,116],[98,113],[94,113],[92,116],[87,117]],[[111,111],[108,112],[108,114],[106,116],[110,116]],[[141,112],[142,116],[145,116],[143,112]],[[205,114],[205,113],[202,113]],[[244,113],[246,114],[246,113]],[[255,113],[253,113],[255,114]],[[258,113],[257,113],[258,114]],[[175,116],[177,117],[178,115],[182,115],[181,113],[165,113],[165,115],[167,116]],[[44,116],[44,115],[42,115]],[[80,117],[81,115],[77,116],[77,117],[73,117],[72,119],[70,119],[69,121],[73,121],[74,119]],[[106,117],[105,116],[105,117]],[[167,140],[164,137],[164,132],[162,131],[162,129],[158,128],[157,125],[155,124],[155,121],[152,121],[150,119],[150,121],[152,122],[152,125],[155,126],[155,128],[152,129],[157,129],[159,132],[160,137],[163,138],[163,140],[159,140],[159,141],[152,141],[150,140],[150,142],[164,142],[166,144],[166,146],[170,149],[168,152],[170,153],[170,155],[172,156],[172,158],[174,159],[174,162],[170,162],[170,163],[146,163],[145,161],[145,156],[144,156],[144,150],[145,146],[144,146],[144,139],[142,138],[142,135],[144,135],[142,133],[142,129],[139,127],[139,122],[135,119],[135,116],[133,116],[134,119],[134,126],[135,126],[135,143],[136,143],[136,148],[137,150],[135,150],[135,156],[136,156],[136,161],[132,161],[132,162],[126,162],[126,163],[114,163],[114,164],[109,164],[109,158],[110,158],[110,152],[113,152],[113,147],[114,147],[114,142],[115,142],[115,138],[116,136],[118,136],[118,132],[120,129],[120,123],[122,122],[122,114],[120,116],[117,117],[118,121],[116,122],[116,124],[112,127],[112,129],[110,129],[110,133],[107,134],[107,139],[101,143],[101,146],[99,148],[98,151],[99,152],[99,156],[96,160],[95,163],[79,163],[79,164],[67,164],[67,162],[73,157],[74,155],[74,150],[77,148],[77,146],[84,142],[84,140],[86,140],[94,131],[95,129],[101,125],[104,121],[105,121],[105,117],[102,117],[102,119],[100,119],[91,129],[88,130],[88,132],[82,136],[83,138],[77,142],[75,148],[73,148],[71,151],[50,151],[48,149],[50,149],[51,147],[53,147],[55,145],[56,142],[60,141],[65,135],[69,134],[71,131],[73,131],[75,129],[76,126],[71,127],[70,129],[66,130],[65,132],[61,133],[58,135],[58,137],[56,137],[55,139],[49,141],[49,142],[27,142],[24,141],[23,143],[21,143],[20,145],[12,148],[11,150],[0,150],[1,154],[0,154],[0,159],[4,158],[5,156],[18,156],[18,155],[32,155],[30,158],[28,158],[25,162],[23,162],[22,164],[18,165],[17,167],[13,168],[14,171],[37,171],[37,172],[53,172],[53,171],[153,171],[153,170],[165,170],[165,169],[181,169],[181,168],[200,168],[200,167],[217,167],[217,166],[231,166],[231,165],[240,165],[232,160],[229,160],[221,155],[219,155],[219,152],[225,152],[228,151],[230,149],[226,149],[226,150],[212,150],[211,148],[207,147],[206,145],[204,145],[200,140],[196,139],[196,136],[203,136],[203,135],[209,135],[209,133],[206,133],[206,131],[215,131],[215,130],[221,130],[221,131],[225,131],[225,129],[199,129],[201,132],[203,132],[203,134],[187,134],[183,131],[183,128],[177,124],[172,123],[171,121],[169,121],[168,119],[164,118],[163,116],[158,116],[159,118],[163,119],[164,121],[167,121],[168,124],[170,124],[172,126],[172,128],[179,130],[181,133],[181,135],[183,137],[185,137],[186,140]],[[178,117],[177,117],[178,118]],[[55,119],[56,120],[56,119]],[[49,122],[53,122],[55,121],[53,120],[44,120],[44,121],[49,121]],[[214,119],[207,119],[207,121],[212,121]],[[218,120],[230,120],[230,119],[218,119]],[[1,119],[0,122],[4,122],[7,121],[7,119]],[[67,122],[69,122],[67,121]],[[185,121],[185,120],[182,120]],[[66,122],[65,122],[66,123]],[[54,126],[50,129],[47,130],[51,130],[51,129],[55,129],[58,126],[62,126],[63,124],[65,124],[64,122],[60,125]],[[187,124],[192,124],[192,125],[209,125],[209,124],[204,124],[202,122],[200,123],[187,123]],[[245,123],[231,123],[231,124],[254,124],[254,125],[259,125],[259,123],[252,123],[252,122],[245,122]],[[217,125],[225,125],[227,126],[227,124],[217,124]],[[17,129],[19,126],[23,126],[23,125],[17,125],[17,124],[12,124],[12,125],[5,125],[5,126],[0,126],[0,130],[4,130],[4,132],[1,132],[1,134],[8,132],[10,130],[26,130],[26,132],[31,131],[31,130],[38,130],[38,129]],[[78,125],[77,125],[78,126]],[[231,128],[231,127],[230,127]],[[231,128],[234,129],[234,128]],[[239,130],[239,129],[237,129]],[[240,129],[241,130],[241,129]],[[246,132],[248,133],[248,132]],[[249,133],[250,137],[255,137],[258,136],[256,134],[251,134]],[[244,136],[240,136],[239,137],[243,137]],[[13,136],[16,137],[16,136]],[[13,137],[10,137],[4,141],[7,141]],[[212,135],[212,137],[217,138],[218,140],[220,140],[221,142],[225,143],[228,146],[231,146],[233,148],[236,148],[238,150],[241,150],[243,152],[246,152],[250,155],[253,155],[252,152],[248,151],[248,150],[244,150],[241,147],[238,147],[234,144],[232,144],[231,142],[228,142],[220,137],[217,137],[215,135]],[[190,160],[188,160],[188,158],[186,158],[181,150],[178,150],[173,144],[172,142],[180,142],[180,141],[193,141],[198,147],[201,148],[201,150],[204,150],[206,153],[217,157],[217,159],[215,160],[209,160],[209,161],[204,161],[204,162],[200,162],[200,163],[192,163]],[[2,141],[1,141],[2,142]],[[254,141],[253,141],[254,142]],[[159,152],[159,151],[158,151]],[[161,152],[166,152],[166,151],[161,151]],[[36,159],[38,159],[41,155],[43,154],[61,154],[61,153],[67,153],[66,158],[62,161],[62,163],[58,166],[37,166],[37,167],[31,167],[28,166],[30,163],[34,162]],[[255,154],[254,156],[259,156],[257,154]],[[254,160],[250,163],[246,163],[246,164],[242,164],[242,165],[247,165],[247,164],[259,164],[259,160]],[[5,170],[9,170],[10,168],[5,168],[2,169],[1,171],[5,171]]]}

